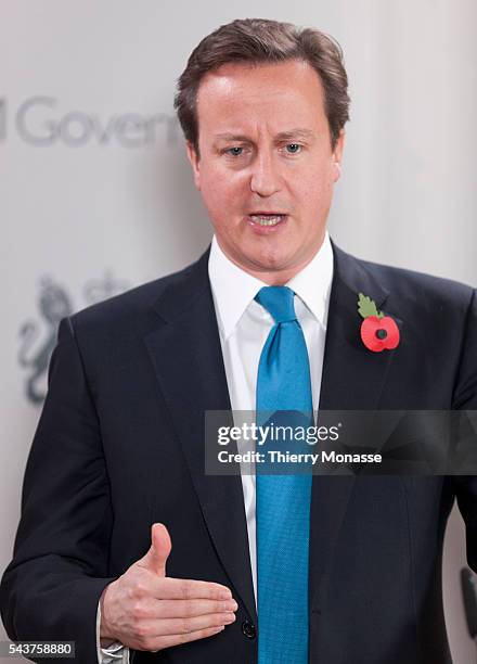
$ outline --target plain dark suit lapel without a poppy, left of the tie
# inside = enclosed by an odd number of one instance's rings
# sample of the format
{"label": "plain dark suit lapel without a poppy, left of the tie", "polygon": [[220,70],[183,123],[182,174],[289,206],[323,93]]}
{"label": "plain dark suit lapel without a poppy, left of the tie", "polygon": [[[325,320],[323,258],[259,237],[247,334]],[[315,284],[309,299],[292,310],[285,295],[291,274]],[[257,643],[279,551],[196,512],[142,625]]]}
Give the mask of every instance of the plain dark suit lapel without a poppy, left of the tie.
{"label": "plain dark suit lapel without a poppy, left of the tie", "polygon": [[231,409],[208,280],[208,252],[166,290],[155,310],[160,320],[145,343],[158,384],[218,557],[255,618],[241,477],[205,474],[205,411]]}

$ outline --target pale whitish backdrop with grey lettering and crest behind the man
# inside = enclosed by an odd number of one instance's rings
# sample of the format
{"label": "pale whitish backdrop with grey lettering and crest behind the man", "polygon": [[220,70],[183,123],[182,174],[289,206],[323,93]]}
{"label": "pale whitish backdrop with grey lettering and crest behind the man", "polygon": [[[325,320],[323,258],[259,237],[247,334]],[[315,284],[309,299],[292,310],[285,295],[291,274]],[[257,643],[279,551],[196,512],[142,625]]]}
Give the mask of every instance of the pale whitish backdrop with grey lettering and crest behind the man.
{"label": "pale whitish backdrop with grey lettering and crest behind the man", "polygon": [[[184,266],[210,240],[173,117],[175,80],[205,34],[245,16],[313,25],[344,48],[352,119],[335,241],[477,285],[475,0],[243,0],[236,10],[215,0],[3,0],[1,570],[57,319]],[[475,662],[464,564],[454,512],[443,579],[456,664]]]}

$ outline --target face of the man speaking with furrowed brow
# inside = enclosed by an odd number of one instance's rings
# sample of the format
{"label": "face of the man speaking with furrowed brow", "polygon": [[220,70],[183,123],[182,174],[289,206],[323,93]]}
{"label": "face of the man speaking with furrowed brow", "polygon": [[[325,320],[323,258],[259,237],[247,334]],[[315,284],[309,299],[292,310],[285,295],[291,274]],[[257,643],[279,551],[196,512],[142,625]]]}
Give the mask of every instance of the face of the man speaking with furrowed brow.
{"label": "face of the man speaking with furrowed brow", "polygon": [[320,248],[339,177],[321,81],[310,65],[227,64],[197,93],[197,157],[188,155],[224,254],[283,284]]}

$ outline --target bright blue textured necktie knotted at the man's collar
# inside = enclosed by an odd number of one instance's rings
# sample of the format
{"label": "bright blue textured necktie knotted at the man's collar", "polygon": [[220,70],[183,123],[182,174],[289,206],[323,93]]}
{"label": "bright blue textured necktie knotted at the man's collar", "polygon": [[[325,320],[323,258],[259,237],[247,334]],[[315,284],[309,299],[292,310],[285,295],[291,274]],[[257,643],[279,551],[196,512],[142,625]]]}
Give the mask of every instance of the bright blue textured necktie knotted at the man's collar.
{"label": "bright blue textured necktie knotted at the man's collar", "polygon": [[[296,425],[289,411],[300,411],[308,425],[310,367],[293,297],[287,286],[266,286],[256,296],[275,322],[258,367],[257,420],[268,411],[281,416],[280,424],[285,416]],[[256,468],[258,664],[306,664],[311,473],[260,474]]]}

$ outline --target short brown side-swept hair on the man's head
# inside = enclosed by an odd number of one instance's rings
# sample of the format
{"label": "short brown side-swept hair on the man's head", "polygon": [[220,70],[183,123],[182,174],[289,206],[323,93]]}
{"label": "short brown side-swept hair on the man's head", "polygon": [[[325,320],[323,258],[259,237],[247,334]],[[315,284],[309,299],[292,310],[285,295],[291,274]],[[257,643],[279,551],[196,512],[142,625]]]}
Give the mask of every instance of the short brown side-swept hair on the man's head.
{"label": "short brown side-swept hair on the man's head", "polygon": [[231,62],[250,64],[300,60],[309,63],[324,89],[325,114],[332,146],[349,119],[348,77],[343,51],[330,36],[315,28],[266,18],[237,18],[220,26],[192,51],[177,82],[175,108],[184,132],[198,155],[197,90],[203,77]]}

